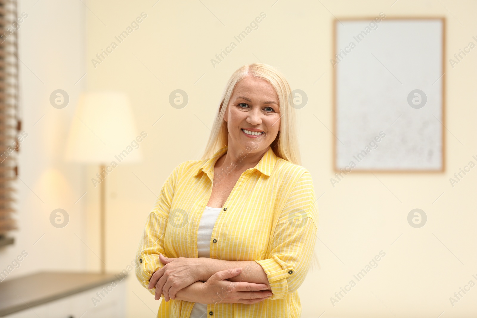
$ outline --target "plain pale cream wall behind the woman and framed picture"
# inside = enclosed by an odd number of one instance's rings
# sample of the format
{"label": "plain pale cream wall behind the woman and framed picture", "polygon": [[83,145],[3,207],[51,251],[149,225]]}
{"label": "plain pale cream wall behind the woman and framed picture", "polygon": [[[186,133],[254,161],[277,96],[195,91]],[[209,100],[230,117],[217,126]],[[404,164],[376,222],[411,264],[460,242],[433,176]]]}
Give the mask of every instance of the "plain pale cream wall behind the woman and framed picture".
{"label": "plain pale cream wall behind the woman and framed picture", "polygon": [[[280,69],[292,88],[307,92],[309,98],[299,111],[299,137],[302,165],[310,170],[316,195],[321,196],[316,241],[321,268],[311,271],[300,288],[302,317],[318,317],[323,312],[321,317],[476,315],[477,287],[455,306],[449,297],[469,280],[477,283],[472,277],[477,276],[477,171],[472,170],[455,187],[449,177],[477,154],[477,51],[454,68],[446,61],[446,173],[355,173],[333,187],[333,136],[329,131],[333,15],[374,17],[382,11],[388,17],[445,16],[449,57],[477,35],[474,1],[155,2],[86,2],[87,89],[127,92],[138,132],[147,133],[140,145],[144,163],[119,166],[107,177],[108,270],[123,270],[133,259],[145,217],[167,175],[178,163],[200,158],[230,74],[244,63],[263,62]],[[141,12],[147,17],[139,29],[118,43],[114,36]],[[234,36],[260,12],[266,18],[259,28],[213,67],[210,60],[215,54],[235,41]],[[94,66],[91,60],[112,41],[118,46]],[[189,96],[183,109],[168,103],[175,89]],[[88,191],[93,193],[87,197],[90,246],[97,240],[94,191],[98,190],[89,181],[94,174],[90,167],[85,176]],[[407,224],[407,214],[414,208],[428,215],[423,228]],[[330,297],[381,250],[385,256],[378,267],[333,306]],[[97,268],[97,258],[87,253],[88,267]],[[128,278],[127,306],[129,317],[155,317],[158,306],[133,273]]]}

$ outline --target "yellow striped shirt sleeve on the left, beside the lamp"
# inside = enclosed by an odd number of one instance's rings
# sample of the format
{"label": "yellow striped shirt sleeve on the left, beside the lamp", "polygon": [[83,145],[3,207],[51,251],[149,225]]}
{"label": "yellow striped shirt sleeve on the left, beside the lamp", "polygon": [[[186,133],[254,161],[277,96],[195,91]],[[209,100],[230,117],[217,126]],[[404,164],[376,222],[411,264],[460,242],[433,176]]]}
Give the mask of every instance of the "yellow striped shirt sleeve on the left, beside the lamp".
{"label": "yellow striped shirt sleeve on the left, beside the lamp", "polygon": [[[179,166],[173,170],[162,186],[156,204],[147,217],[143,236],[137,248],[135,273],[139,282],[146,288],[152,274],[164,266],[159,261],[159,253],[166,256],[164,237]],[[151,294],[156,293],[156,287],[148,290]]]}

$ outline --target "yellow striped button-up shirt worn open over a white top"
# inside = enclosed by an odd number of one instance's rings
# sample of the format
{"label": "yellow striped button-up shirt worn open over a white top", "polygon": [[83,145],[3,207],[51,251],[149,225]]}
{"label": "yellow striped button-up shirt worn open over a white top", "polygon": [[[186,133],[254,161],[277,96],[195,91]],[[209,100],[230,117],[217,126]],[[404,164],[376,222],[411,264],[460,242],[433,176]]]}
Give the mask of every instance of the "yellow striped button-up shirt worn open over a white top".
{"label": "yellow striped button-up shirt worn open over a white top", "polygon": [[[207,160],[179,164],[162,186],[136,253],[136,277],[144,287],[164,266],[159,253],[173,258],[198,257],[197,229],[212,192],[214,165],[227,148]],[[311,174],[278,157],[269,147],[255,167],[241,174],[225,201],[212,230],[210,257],[256,261],[267,274],[272,296],[252,305],[209,304],[207,317],[300,317],[297,289],[308,272],[317,224]],[[155,288],[150,292],[154,294]],[[189,318],[194,303],[161,298],[157,317]]]}

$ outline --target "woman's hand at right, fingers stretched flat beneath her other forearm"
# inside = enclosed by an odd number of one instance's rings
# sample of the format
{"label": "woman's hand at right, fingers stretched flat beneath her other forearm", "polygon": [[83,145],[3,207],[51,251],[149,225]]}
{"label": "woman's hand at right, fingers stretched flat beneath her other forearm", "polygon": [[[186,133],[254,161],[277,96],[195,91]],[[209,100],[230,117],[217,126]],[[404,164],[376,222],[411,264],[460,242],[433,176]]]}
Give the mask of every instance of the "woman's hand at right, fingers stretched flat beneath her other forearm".
{"label": "woman's hand at right, fingers stretched flat beneath her other forearm", "polygon": [[255,304],[269,298],[272,293],[265,284],[248,282],[231,282],[228,278],[238,276],[242,268],[230,268],[212,275],[201,284],[201,298],[203,304]]}

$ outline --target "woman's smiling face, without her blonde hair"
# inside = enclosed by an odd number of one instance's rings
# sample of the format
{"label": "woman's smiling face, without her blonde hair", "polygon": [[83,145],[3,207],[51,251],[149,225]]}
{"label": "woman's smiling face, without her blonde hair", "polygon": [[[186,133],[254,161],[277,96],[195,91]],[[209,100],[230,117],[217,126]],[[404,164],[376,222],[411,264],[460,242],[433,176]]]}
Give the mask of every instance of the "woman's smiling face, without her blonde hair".
{"label": "woman's smiling face, without her blonde hair", "polygon": [[[224,115],[228,146],[260,152],[270,146],[280,130],[277,93],[269,82],[252,76],[239,81]],[[255,135],[256,133],[260,135]],[[253,135],[250,135],[253,133]]]}

